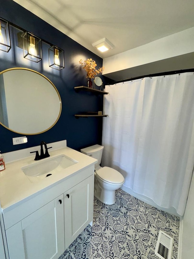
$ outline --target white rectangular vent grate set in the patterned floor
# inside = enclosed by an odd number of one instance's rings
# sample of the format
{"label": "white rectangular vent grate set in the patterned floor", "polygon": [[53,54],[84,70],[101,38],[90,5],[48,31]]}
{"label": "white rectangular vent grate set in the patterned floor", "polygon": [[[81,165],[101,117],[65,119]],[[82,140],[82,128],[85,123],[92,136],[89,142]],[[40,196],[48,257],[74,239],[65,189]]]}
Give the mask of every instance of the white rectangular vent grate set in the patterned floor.
{"label": "white rectangular vent grate set in the patterned floor", "polygon": [[161,259],[171,259],[173,239],[163,231],[159,231],[155,254]]}

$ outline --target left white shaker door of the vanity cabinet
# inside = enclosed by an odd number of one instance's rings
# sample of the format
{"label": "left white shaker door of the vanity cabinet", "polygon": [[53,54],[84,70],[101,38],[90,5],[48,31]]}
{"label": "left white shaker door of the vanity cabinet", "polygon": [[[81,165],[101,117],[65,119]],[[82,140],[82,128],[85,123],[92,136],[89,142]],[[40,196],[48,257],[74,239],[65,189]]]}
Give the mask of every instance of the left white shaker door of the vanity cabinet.
{"label": "left white shaker door of the vanity cabinet", "polygon": [[6,236],[10,259],[57,259],[65,250],[63,195],[10,227]]}

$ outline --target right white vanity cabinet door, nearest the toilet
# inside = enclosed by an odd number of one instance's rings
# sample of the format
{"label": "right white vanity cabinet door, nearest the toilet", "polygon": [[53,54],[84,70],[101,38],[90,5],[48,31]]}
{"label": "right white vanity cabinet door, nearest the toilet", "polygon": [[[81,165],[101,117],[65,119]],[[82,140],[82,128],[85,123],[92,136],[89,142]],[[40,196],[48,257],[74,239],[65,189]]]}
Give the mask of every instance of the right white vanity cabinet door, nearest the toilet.
{"label": "right white vanity cabinet door, nearest the toilet", "polygon": [[93,184],[90,176],[64,193],[65,249],[93,219]]}

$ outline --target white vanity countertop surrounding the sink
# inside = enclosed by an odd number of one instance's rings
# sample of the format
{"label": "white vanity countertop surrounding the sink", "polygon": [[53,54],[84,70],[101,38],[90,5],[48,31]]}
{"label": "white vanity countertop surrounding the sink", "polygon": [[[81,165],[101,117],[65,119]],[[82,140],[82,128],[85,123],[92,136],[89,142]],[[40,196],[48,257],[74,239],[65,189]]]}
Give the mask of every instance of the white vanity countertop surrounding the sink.
{"label": "white vanity countertop surrounding the sink", "polygon": [[2,210],[14,204],[16,205],[16,203],[24,202],[27,198],[29,199],[29,196],[44,192],[73,174],[79,173],[83,168],[94,165],[97,162],[96,159],[75,151],[72,148],[64,147],[53,151],[49,149],[50,157],[60,154],[75,159],[78,163],[63,169],[63,172],[53,174],[38,182],[31,182],[21,170],[21,167],[36,162],[34,161],[35,155],[6,163],[5,170],[0,171],[0,201]]}

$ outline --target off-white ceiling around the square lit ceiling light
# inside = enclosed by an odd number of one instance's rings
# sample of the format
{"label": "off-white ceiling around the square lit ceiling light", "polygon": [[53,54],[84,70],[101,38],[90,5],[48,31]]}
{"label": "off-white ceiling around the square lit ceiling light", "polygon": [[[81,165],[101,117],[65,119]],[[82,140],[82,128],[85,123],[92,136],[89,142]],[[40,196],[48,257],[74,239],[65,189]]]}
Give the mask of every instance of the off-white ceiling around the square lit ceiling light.
{"label": "off-white ceiling around the square lit ceiling light", "polygon": [[[14,1],[102,58],[194,27],[193,0]],[[115,48],[100,53],[104,37]]]}

